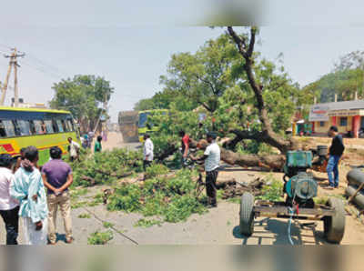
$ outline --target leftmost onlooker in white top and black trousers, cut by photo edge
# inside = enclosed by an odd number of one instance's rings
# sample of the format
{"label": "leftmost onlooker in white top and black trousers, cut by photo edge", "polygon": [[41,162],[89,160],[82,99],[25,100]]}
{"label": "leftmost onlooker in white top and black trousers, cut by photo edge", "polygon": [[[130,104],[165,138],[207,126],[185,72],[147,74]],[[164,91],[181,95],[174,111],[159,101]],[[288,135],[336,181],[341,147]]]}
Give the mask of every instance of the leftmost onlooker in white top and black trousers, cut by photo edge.
{"label": "leftmost onlooker in white top and black trousers, cut by photo edge", "polygon": [[19,233],[19,203],[10,196],[10,186],[15,181],[11,171],[12,157],[0,155],[0,216],[6,230],[6,245],[17,245]]}

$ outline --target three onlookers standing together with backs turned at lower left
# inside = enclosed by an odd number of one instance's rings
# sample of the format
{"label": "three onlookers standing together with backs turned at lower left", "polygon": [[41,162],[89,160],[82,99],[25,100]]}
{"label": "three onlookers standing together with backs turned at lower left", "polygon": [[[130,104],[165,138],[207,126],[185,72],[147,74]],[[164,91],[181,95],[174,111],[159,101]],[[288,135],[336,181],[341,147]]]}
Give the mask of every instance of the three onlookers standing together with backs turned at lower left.
{"label": "three onlookers standing together with backs turned at lower left", "polygon": [[50,160],[41,170],[35,146],[22,150],[15,170],[12,156],[0,155],[0,216],[5,222],[6,245],[18,244],[19,221],[23,224],[25,245],[55,245],[58,206],[65,224],[66,243],[74,240],[68,193],[73,183],[72,169],[62,160],[59,147],[54,146],[49,152]]}

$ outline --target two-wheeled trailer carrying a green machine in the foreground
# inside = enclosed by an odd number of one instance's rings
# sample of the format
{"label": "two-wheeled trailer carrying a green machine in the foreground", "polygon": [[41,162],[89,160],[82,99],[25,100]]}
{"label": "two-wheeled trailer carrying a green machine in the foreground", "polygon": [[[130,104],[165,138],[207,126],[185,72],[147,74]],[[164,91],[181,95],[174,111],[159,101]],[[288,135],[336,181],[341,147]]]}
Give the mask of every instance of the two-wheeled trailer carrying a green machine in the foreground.
{"label": "two-wheeled trailer carrying a green machine in the foreground", "polygon": [[251,193],[244,193],[240,202],[240,233],[251,236],[254,232],[254,219],[259,216],[288,218],[289,240],[292,219],[322,221],[324,236],[329,243],[339,244],[345,231],[345,209],[338,197],[329,197],[326,205],[315,203],[318,183],[308,169],[313,156],[317,164],[324,163],[328,155],[327,146],[318,146],[310,151],[288,151],[284,166],[282,202],[255,201]]}

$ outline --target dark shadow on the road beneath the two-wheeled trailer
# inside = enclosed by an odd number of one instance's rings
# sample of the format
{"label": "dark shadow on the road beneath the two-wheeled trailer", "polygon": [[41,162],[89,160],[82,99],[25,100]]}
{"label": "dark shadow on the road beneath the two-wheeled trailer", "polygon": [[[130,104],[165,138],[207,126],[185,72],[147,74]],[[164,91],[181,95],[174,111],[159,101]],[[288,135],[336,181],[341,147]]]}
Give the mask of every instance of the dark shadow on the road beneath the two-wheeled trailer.
{"label": "dark shadow on the road beneath the two-wheeled trailer", "polygon": [[[291,238],[294,245],[322,245],[326,244],[323,233],[316,231],[315,227],[302,229],[303,224],[292,223]],[[254,222],[252,236],[240,234],[239,226],[235,226],[232,232],[237,239],[242,239],[242,245],[289,245],[288,219],[278,220],[263,218]]]}

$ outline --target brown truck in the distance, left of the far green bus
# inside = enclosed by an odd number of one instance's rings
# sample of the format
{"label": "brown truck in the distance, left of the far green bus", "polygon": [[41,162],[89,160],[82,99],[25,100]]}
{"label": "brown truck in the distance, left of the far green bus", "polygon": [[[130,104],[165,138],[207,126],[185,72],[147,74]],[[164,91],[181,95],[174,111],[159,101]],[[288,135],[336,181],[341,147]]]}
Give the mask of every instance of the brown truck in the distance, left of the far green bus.
{"label": "brown truck in the distance, left of the far green bus", "polygon": [[122,111],[119,112],[118,123],[119,130],[123,135],[126,143],[138,142],[139,136],[137,131],[138,112]]}

